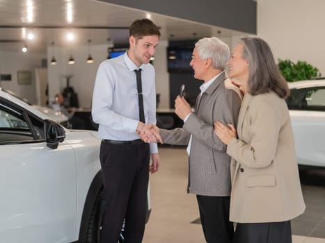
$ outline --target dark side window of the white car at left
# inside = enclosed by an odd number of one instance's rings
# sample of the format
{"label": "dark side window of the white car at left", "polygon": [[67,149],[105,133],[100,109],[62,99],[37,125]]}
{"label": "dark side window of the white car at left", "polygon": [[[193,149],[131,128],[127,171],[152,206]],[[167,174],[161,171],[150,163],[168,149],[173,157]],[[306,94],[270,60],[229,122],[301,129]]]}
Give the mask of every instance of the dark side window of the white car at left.
{"label": "dark side window of the white car at left", "polygon": [[43,124],[34,117],[0,103],[0,144],[44,139]]}

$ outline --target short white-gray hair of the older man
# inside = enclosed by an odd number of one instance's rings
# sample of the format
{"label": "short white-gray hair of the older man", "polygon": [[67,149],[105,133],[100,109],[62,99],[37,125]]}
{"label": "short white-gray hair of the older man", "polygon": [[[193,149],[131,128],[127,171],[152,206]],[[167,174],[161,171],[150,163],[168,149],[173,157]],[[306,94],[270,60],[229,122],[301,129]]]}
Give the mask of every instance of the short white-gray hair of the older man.
{"label": "short white-gray hair of the older man", "polygon": [[196,49],[201,59],[211,58],[212,67],[215,69],[225,69],[225,65],[230,58],[230,51],[227,44],[217,37],[203,38],[196,42]]}

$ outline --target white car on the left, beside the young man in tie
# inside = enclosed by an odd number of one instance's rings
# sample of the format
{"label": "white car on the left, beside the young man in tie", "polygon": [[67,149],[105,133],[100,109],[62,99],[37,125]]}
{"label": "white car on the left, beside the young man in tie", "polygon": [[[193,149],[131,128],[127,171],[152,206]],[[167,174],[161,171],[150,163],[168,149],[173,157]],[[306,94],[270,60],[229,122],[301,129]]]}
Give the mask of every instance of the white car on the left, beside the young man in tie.
{"label": "white car on the left, beside the young man in tie", "polygon": [[98,242],[100,142],[0,88],[0,242]]}

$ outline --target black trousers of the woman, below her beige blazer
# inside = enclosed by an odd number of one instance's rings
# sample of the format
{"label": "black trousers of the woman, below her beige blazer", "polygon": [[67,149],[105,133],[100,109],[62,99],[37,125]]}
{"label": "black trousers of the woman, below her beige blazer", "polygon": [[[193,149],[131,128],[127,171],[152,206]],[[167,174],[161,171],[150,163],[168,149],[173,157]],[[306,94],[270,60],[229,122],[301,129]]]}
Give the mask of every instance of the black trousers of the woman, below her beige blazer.
{"label": "black trousers of the woman, below her beige blazer", "polygon": [[237,224],[233,243],[292,243],[291,223]]}

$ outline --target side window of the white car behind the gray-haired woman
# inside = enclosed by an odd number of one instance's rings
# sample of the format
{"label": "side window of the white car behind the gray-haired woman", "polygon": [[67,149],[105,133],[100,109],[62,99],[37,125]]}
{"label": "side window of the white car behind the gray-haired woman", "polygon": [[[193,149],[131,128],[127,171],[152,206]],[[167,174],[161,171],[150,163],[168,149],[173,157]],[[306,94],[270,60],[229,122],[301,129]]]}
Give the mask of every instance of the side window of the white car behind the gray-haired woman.
{"label": "side window of the white car behind the gray-haired woman", "polygon": [[291,90],[287,105],[290,110],[325,110],[325,87]]}

